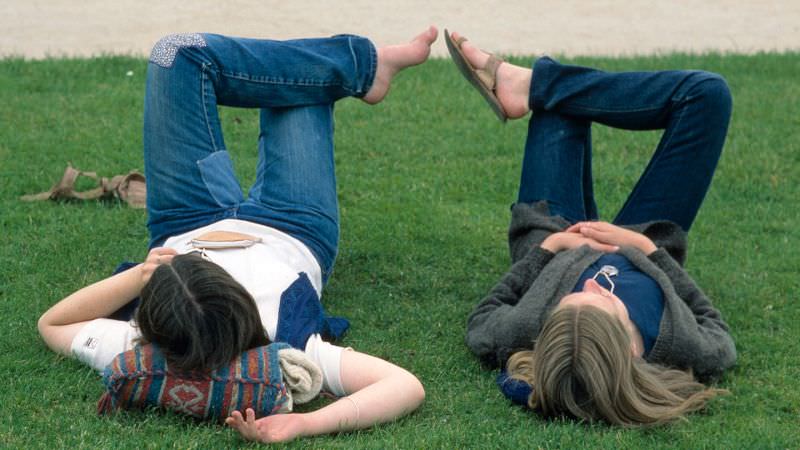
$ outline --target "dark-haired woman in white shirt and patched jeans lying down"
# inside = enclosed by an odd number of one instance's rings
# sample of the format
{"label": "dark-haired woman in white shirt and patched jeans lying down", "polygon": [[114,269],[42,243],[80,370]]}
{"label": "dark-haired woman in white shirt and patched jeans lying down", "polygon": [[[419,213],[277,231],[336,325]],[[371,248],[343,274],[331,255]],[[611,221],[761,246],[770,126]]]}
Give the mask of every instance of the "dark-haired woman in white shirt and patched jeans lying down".
{"label": "dark-haired woman in white shirt and patched jeans lying down", "polygon": [[[102,370],[134,343],[151,342],[172,367],[191,371],[214,370],[270,340],[294,341],[321,369],[323,389],[341,399],[258,421],[252,410],[246,418],[235,412],[228,423],[249,439],[359,429],[416,409],[425,393],[414,375],[332,345],[324,327],[307,325],[318,323],[339,238],[333,105],[347,96],[381,101],[397,72],[428,58],[436,36],[430,27],[378,49],[350,35],[161,39],[144,106],[151,250],[144,263],[48,310],[39,320],[47,345]],[[258,173],[247,198],[217,105],[260,108]],[[137,296],[135,320],[109,318]],[[311,320],[287,326],[293,314]]]}

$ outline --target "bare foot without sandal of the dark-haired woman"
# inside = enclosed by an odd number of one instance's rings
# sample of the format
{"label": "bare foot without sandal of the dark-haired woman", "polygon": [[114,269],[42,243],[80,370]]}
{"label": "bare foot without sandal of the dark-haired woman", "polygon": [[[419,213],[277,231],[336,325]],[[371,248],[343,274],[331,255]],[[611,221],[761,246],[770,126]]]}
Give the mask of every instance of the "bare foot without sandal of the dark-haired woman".
{"label": "bare foot without sandal of the dark-haired woman", "polygon": [[374,105],[386,97],[392,78],[406,67],[422,64],[431,54],[431,44],[436,41],[439,31],[431,25],[426,31],[420,33],[408,44],[389,45],[378,49],[378,68],[375,72],[375,81],[369,92],[361,98]]}

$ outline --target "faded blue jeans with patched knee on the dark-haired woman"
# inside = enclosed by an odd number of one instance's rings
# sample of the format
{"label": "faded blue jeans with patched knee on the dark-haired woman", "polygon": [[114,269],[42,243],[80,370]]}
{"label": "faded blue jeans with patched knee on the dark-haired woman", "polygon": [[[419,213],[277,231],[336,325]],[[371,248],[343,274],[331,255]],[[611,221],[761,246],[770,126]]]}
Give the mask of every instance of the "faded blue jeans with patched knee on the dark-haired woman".
{"label": "faded blue jeans with patched knee on the dark-haired woman", "polygon": [[[306,244],[327,280],[339,240],[333,104],[366,94],[376,65],[375,47],[357,36],[161,39],[144,106],[150,246],[222,219],[248,220]],[[246,199],[217,105],[261,109],[258,173]]]}

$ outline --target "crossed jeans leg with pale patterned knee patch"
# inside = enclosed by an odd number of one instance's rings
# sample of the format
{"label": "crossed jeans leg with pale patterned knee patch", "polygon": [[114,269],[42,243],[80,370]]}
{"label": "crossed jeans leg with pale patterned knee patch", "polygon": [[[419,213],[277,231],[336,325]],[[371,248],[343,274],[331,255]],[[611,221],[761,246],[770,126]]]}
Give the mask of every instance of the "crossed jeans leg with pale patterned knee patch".
{"label": "crossed jeans leg with pale patterned knee patch", "polygon": [[148,67],[144,158],[151,245],[235,214],[243,196],[217,105],[330,105],[364,95],[374,46],[355,36],[269,41],[173,35]]}

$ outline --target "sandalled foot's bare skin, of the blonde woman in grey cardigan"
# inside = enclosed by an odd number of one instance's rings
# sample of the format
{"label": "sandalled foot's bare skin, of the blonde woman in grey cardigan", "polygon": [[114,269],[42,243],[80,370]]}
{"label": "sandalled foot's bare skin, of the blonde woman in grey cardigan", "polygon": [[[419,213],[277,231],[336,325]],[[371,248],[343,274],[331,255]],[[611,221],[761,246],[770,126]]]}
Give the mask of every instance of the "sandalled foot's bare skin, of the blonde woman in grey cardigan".
{"label": "sandalled foot's bare skin, of the blonde woman in grey cardigan", "polygon": [[[461,37],[451,33],[454,41]],[[489,54],[475,47],[469,41],[461,44],[461,50],[467,61],[476,69],[486,66]],[[497,85],[495,93],[509,119],[518,119],[530,111],[528,96],[531,88],[533,70],[504,62],[497,68]]]}

